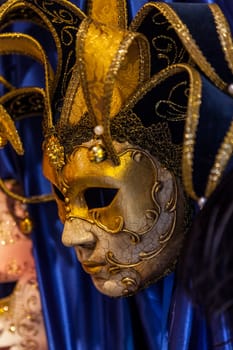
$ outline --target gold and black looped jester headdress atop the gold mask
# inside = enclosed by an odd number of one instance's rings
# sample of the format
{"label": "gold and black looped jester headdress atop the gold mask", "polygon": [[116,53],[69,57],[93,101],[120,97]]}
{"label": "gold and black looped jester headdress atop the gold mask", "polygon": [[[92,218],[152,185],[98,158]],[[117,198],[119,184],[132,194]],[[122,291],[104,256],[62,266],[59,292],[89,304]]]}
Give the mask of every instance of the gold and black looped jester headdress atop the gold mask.
{"label": "gold and black looped jester headdress atop the gold mask", "polygon": [[[217,33],[215,33],[217,43],[213,50],[218,46],[217,49],[221,55],[225,56],[223,59],[227,65],[224,67],[228,66],[228,71],[225,68],[225,71],[224,69],[221,71],[212,60],[211,53],[206,54],[205,49],[202,50],[201,45],[198,46],[199,42],[193,28],[189,25],[188,16],[185,17],[177,5],[146,4],[128,30],[126,1],[108,1],[104,4],[101,1],[89,1],[87,9],[88,17],[67,1],[47,3],[36,0],[9,0],[1,6],[2,29],[7,28],[12,21],[32,21],[36,25],[45,27],[52,34],[58,54],[57,69],[53,74],[46,54],[36,39],[19,33],[1,34],[1,55],[10,53],[27,55],[39,61],[45,71],[45,89],[33,87],[11,90],[1,97],[1,111],[4,111],[1,114],[6,116],[9,111],[11,118],[17,120],[43,111],[44,135],[47,145],[44,147],[47,147],[50,159],[58,168],[62,167],[64,161],[63,143],[66,154],[66,150],[69,152],[75,143],[90,139],[93,133],[91,129],[101,125],[103,129],[100,138],[104,148],[113,163],[117,164],[118,159],[112,146],[112,137],[125,139],[125,134],[128,133],[121,130],[124,135],[121,132],[117,132],[118,136],[115,135],[118,126],[122,129],[123,120],[125,118],[132,120],[133,117],[132,123],[135,122],[139,127],[141,122],[138,119],[135,120],[133,108],[135,104],[140,104],[138,101],[144,95],[148,95],[149,91],[163,85],[163,82],[169,80],[169,77],[179,76],[183,71],[186,78],[182,82],[172,83],[173,86],[167,88],[169,91],[167,96],[164,94],[163,98],[158,99],[154,104],[157,108],[156,116],[161,117],[159,122],[155,123],[158,126],[153,136],[156,137],[156,141],[152,141],[151,138],[150,141],[145,140],[151,135],[150,128],[142,126],[140,135],[143,136],[148,130],[147,136],[142,137],[144,140],[141,142],[143,147],[149,148],[150,151],[153,149],[154,153],[164,154],[164,150],[168,149],[167,147],[170,148],[168,153],[171,153],[171,156],[169,160],[165,159],[165,163],[167,165],[171,162],[171,167],[180,158],[181,147],[184,146],[183,181],[189,195],[198,199],[190,189],[192,181],[190,156],[187,160],[187,154],[193,154],[194,151],[188,146],[189,141],[186,139],[182,145],[183,140],[180,138],[178,147],[176,147],[176,142],[167,144],[166,139],[169,138],[169,135],[171,138],[172,129],[168,124],[171,120],[186,119],[184,135],[195,142],[194,125],[198,124],[203,91],[201,83],[198,84],[198,80],[201,79],[198,77],[199,73],[194,71],[193,67],[199,68],[215,86],[227,92],[233,60],[230,30],[223,14],[216,5],[208,5],[208,16],[212,14],[211,21]],[[195,11],[195,6],[192,10]],[[100,63],[101,61],[104,64]],[[157,75],[154,75],[156,73]],[[3,79],[2,77],[2,83]],[[126,79],[127,84],[124,84]],[[9,86],[9,83],[6,84]],[[160,90],[162,89],[163,87]],[[133,96],[134,93],[135,96]],[[187,97],[184,98],[184,96]],[[196,101],[193,103],[194,99]],[[180,100],[182,100],[181,104]],[[34,101],[37,101],[36,104]],[[19,106],[17,109],[15,108],[16,102]],[[25,108],[26,105],[27,108]],[[61,115],[56,121],[61,108]],[[186,118],[187,115],[190,117]],[[147,118],[148,116],[144,116],[144,119]],[[117,119],[120,119],[119,123]],[[152,122],[154,123],[154,120]],[[148,124],[148,121],[146,123]],[[112,131],[110,130],[111,124]],[[192,124],[194,128],[191,133],[187,132],[188,124]],[[85,136],[83,130],[86,127],[89,130],[85,130]],[[128,125],[126,125],[127,128]],[[79,130],[80,135],[78,136]],[[136,133],[137,131],[132,132],[130,140],[133,139],[134,142],[140,144],[140,136],[139,134],[136,136]],[[161,145],[161,133],[163,133],[165,142],[163,146]],[[227,143],[229,147],[231,147],[230,135],[231,130],[229,129],[224,141],[224,144]],[[5,139],[5,135],[2,137]],[[16,137],[14,139],[17,140]],[[230,154],[230,152],[227,153]],[[176,161],[173,162],[174,156]],[[228,158],[229,156],[226,157],[224,164],[227,163]],[[180,165],[177,167],[180,168]],[[211,190],[207,191],[207,196],[214,187],[215,185],[211,186]]]}

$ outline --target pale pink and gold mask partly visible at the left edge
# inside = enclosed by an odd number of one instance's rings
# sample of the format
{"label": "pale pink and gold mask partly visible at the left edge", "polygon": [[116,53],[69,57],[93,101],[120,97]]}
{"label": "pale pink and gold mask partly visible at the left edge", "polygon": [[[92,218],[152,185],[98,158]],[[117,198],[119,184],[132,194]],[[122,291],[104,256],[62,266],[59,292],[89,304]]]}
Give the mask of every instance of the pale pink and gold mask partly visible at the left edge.
{"label": "pale pink and gold mask partly visible at the left edge", "polygon": [[[8,190],[19,193],[14,181]],[[32,226],[25,205],[0,192],[0,283],[14,283],[0,299],[0,349],[47,349],[40,294],[28,234]]]}

